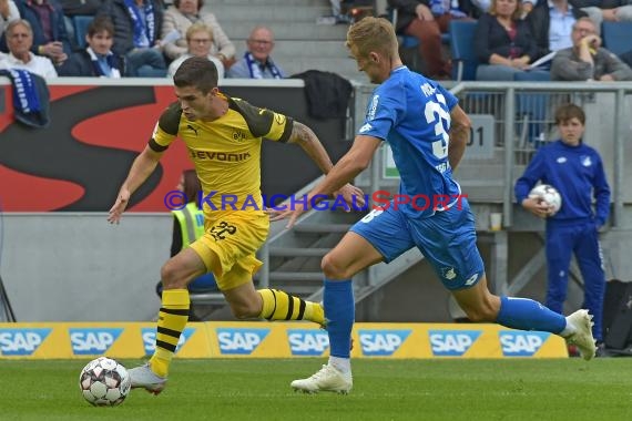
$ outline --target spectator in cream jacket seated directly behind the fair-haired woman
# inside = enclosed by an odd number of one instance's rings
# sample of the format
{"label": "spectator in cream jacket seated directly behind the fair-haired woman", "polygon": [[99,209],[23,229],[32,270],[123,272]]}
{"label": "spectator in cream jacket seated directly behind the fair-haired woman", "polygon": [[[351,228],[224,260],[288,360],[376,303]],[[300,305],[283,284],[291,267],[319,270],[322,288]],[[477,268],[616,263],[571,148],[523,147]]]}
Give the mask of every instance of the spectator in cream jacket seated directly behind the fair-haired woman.
{"label": "spectator in cream jacket seated directly behind the fair-haired woman", "polygon": [[187,51],[187,43],[184,34],[193,23],[201,22],[213,31],[211,53],[220,59],[227,68],[235,61],[235,45],[233,45],[217,22],[215,14],[201,10],[203,6],[204,0],[173,1],[173,6],[171,6],[164,13],[162,38],[164,39],[173,31],[180,32],[181,38],[176,41],[165,43],[164,53],[172,60],[185,54]]}

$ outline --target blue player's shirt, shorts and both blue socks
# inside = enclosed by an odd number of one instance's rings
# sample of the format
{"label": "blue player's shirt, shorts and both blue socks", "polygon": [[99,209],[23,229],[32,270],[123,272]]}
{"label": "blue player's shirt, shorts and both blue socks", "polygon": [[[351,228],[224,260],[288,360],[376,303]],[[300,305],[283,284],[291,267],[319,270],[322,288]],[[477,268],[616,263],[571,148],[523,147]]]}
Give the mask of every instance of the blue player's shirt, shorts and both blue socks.
{"label": "blue player's shirt, shorts and both blue socks", "polygon": [[[350,228],[385,261],[418,247],[450,290],[472,288],[485,276],[473,216],[448,161],[450,111],[457,103],[441,85],[404,65],[375,90],[359,134],[388,142],[401,179],[399,199],[394,197]],[[325,278],[323,305],[330,362],[348,359],[355,319],[351,279]],[[567,327],[563,316],[524,298],[501,297],[496,321],[553,333]]]}

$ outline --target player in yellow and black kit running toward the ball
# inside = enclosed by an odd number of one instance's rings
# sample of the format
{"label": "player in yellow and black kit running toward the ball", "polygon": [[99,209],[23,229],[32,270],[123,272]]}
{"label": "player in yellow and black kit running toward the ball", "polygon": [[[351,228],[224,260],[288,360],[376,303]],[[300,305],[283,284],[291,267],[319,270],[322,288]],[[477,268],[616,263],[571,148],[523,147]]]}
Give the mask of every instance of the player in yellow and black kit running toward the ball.
{"label": "player in yellow and black kit running toward the ball", "polygon": [[[205,234],[162,267],[164,291],[156,349],[149,363],[130,370],[133,388],[156,394],[164,389],[171,359],[188,319],[186,286],[207,271],[215,275],[217,286],[239,319],[324,324],[320,304],[276,289],[255,290],[253,285],[253,275],[262,265],[255,253],[269,227],[259,189],[262,138],[298,144],[325,174],[333,167],[318,137],[306,125],[223,95],[217,88],[217,70],[205,58],[184,61],[173,82],[177,102],[160,116],[108,217],[110,223],[119,223],[130,196],[154,171],[176,136],[186,143],[205,195]],[[349,184],[337,193],[348,204],[353,196],[363,197],[363,192]]]}

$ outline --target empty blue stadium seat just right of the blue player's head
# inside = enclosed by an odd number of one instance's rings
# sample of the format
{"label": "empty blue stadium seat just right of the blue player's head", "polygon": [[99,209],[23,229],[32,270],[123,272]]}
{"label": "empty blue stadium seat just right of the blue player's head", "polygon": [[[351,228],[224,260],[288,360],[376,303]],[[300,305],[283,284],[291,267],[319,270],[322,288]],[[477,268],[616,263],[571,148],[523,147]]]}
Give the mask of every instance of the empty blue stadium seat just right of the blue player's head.
{"label": "empty blue stadium seat just right of the blue player's head", "polygon": [[453,20],[450,22],[452,79],[457,82],[476,80],[478,68],[478,58],[473,48],[476,24],[476,21]]}

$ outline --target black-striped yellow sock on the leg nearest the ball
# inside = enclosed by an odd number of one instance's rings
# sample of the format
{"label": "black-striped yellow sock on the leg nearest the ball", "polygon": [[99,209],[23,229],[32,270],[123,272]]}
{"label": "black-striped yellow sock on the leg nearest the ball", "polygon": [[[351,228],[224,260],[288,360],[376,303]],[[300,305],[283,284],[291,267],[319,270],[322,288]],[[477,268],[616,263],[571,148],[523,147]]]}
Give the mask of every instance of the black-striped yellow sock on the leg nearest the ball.
{"label": "black-striped yellow sock on the leg nearest the ball", "polygon": [[171,359],[180,335],[188,320],[188,290],[165,289],[162,292],[162,306],[159,312],[156,349],[150,359],[152,371],[160,377],[166,377]]}

